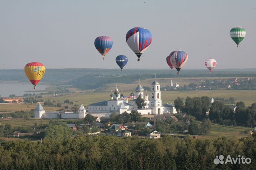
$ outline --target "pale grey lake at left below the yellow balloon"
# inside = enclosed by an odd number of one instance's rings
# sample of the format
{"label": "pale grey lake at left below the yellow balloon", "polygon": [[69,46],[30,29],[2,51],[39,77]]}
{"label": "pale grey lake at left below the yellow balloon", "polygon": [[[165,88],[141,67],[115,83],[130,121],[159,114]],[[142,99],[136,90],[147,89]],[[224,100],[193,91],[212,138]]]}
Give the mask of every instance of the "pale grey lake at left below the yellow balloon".
{"label": "pale grey lake at left below the yellow balloon", "polygon": [[[36,86],[37,90],[44,90],[48,87],[47,85]],[[0,95],[1,97],[9,97],[9,95],[23,96],[25,93],[33,93],[33,92],[25,92],[25,91],[33,91],[34,86],[31,83],[8,83],[8,82],[0,82]],[[35,92],[36,93],[36,92]]]}

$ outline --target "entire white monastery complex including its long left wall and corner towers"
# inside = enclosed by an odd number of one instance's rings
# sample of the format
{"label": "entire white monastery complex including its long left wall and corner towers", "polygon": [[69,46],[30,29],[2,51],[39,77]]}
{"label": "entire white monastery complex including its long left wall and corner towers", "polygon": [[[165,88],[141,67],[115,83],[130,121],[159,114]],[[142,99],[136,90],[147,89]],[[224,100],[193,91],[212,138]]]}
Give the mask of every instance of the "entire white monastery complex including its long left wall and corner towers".
{"label": "entire white monastery complex including its long left wall and corner towers", "polygon": [[[160,84],[154,80],[151,84],[151,91],[148,94],[140,83],[135,89],[135,94],[130,93],[129,97],[120,94],[118,87],[114,90],[114,94],[110,94],[110,99],[98,103],[88,105],[88,111],[81,105],[78,112],[45,112],[42,105],[39,103],[34,111],[35,118],[38,119],[82,119],[87,113],[94,117],[109,117],[113,112],[122,114],[124,112],[131,113],[132,110],[137,110],[141,115],[162,115],[165,113],[177,113],[174,104],[162,105]],[[141,97],[145,101],[145,107],[138,109],[136,99]]]}

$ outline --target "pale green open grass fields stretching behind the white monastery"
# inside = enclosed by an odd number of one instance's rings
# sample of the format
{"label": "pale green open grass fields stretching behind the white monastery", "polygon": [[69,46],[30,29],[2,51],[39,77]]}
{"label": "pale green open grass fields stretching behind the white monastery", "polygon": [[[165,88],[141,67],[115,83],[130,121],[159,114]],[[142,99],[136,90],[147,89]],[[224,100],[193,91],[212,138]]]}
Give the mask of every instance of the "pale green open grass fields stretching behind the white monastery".
{"label": "pale green open grass fields stretching behind the white monastery", "polygon": [[[122,85],[119,86],[119,89],[122,89]],[[135,86],[136,88],[136,86]],[[113,88],[114,89],[114,88]],[[125,88],[123,88],[125,89]],[[62,107],[44,107],[46,111],[56,111],[58,109],[63,108],[66,104],[64,104],[64,100],[69,99],[73,101],[76,105],[83,104],[88,107],[89,104],[105,101],[110,99],[110,91],[109,90],[101,90],[94,92],[82,92],[82,93],[71,93],[69,95],[65,95],[62,97],[50,97],[45,96],[45,101],[54,101],[57,100],[57,103],[62,103]],[[131,91],[123,91],[123,94],[129,96]],[[174,100],[177,97],[183,97],[186,99],[189,97],[224,97],[228,99],[229,97],[234,97],[236,102],[243,101],[246,106],[250,106],[252,103],[256,102],[256,91],[255,90],[212,90],[212,91],[162,91],[161,98],[162,103],[174,103]],[[55,103],[55,104],[57,104]],[[0,104],[0,112],[8,112],[8,111],[31,111],[31,109],[36,109],[38,104]],[[74,106],[74,105],[70,105]]]}

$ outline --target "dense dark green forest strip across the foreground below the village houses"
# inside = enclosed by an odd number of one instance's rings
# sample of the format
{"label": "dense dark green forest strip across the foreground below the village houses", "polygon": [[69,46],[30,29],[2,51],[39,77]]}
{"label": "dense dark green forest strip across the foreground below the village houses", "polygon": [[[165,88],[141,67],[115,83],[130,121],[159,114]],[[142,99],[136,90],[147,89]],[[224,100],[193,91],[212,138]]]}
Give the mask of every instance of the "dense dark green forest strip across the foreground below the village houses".
{"label": "dense dark green forest strip across the foreground below the village houses", "polygon": [[[244,156],[250,164],[218,164],[217,155]],[[77,138],[2,141],[1,170],[252,170],[256,166],[256,141],[248,138],[184,140],[164,136],[159,140],[80,136]]]}

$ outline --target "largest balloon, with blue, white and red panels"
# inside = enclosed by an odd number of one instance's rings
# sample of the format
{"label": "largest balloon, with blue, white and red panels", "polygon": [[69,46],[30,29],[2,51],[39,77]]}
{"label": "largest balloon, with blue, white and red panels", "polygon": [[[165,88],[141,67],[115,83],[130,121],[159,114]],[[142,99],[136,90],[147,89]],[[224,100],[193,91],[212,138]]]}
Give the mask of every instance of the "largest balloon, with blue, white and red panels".
{"label": "largest balloon, with blue, white and red panels", "polygon": [[134,27],[127,32],[126,42],[140,61],[140,56],[152,42],[152,34],[144,28]]}

